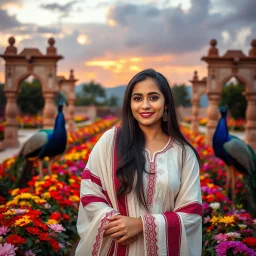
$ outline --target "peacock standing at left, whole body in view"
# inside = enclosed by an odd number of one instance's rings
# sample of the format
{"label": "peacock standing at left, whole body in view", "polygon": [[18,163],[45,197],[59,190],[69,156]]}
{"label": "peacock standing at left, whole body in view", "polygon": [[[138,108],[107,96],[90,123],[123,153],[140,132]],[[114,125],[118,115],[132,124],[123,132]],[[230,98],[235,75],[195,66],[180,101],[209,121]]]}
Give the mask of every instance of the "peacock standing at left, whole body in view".
{"label": "peacock standing at left, whole body in view", "polygon": [[48,173],[54,157],[62,154],[67,145],[67,131],[65,117],[62,112],[64,101],[59,101],[58,114],[55,119],[54,130],[41,129],[31,136],[21,148],[17,159],[25,158],[25,165],[21,172],[18,186],[23,187],[33,176],[33,164],[38,161],[39,177],[43,178],[43,159],[49,157]]}

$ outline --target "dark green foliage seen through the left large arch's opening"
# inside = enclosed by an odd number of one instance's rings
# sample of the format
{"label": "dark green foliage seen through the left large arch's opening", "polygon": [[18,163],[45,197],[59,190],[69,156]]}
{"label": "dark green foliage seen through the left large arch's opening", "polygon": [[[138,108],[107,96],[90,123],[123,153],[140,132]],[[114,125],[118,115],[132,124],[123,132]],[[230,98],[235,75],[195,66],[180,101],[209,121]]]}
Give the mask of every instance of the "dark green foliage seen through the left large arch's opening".
{"label": "dark green foliage seen through the left large arch's opening", "polygon": [[23,113],[36,115],[44,108],[42,87],[39,81],[32,83],[23,81],[20,85],[20,94],[17,98],[18,106]]}

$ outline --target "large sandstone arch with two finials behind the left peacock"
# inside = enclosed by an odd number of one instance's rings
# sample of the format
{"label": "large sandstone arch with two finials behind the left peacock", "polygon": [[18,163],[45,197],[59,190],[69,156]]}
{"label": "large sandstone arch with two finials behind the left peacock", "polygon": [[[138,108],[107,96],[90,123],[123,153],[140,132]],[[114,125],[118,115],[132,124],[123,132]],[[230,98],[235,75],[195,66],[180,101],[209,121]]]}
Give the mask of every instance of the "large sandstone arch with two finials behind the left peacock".
{"label": "large sandstone arch with two finials behind the left peacock", "polygon": [[57,55],[54,47],[55,40],[48,40],[49,46],[46,54],[42,54],[36,48],[25,48],[21,53],[17,53],[14,46],[15,39],[9,38],[9,46],[6,47],[4,54],[0,55],[5,60],[5,84],[4,93],[7,98],[5,107],[6,129],[2,148],[18,146],[18,124],[17,116],[17,91],[20,81],[29,75],[33,75],[42,85],[45,107],[43,110],[44,127],[53,128],[56,107],[54,96],[58,90],[56,68],[57,62],[62,59]]}

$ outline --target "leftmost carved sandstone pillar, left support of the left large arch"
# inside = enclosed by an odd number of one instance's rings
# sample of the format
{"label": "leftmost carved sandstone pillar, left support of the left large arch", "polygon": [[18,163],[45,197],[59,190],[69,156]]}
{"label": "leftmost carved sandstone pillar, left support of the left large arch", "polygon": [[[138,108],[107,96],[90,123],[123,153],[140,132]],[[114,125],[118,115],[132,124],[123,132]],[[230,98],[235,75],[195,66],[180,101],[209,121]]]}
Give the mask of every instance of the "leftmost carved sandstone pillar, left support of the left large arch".
{"label": "leftmost carved sandstone pillar, left support of the left large arch", "polygon": [[5,108],[5,117],[6,124],[4,129],[4,148],[15,148],[18,147],[18,122],[17,122],[17,114],[18,107],[16,102],[16,92],[8,92],[5,91],[5,96],[7,98],[7,104]]}

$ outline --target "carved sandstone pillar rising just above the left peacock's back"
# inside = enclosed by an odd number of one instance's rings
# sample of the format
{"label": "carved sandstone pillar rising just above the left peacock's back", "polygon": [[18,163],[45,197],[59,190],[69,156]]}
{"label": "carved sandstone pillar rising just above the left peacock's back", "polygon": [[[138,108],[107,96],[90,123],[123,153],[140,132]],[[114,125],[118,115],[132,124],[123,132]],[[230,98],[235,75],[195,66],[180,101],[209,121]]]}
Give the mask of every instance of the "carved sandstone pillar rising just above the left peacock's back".
{"label": "carved sandstone pillar rising just above the left peacock's back", "polygon": [[55,92],[43,92],[45,105],[43,111],[44,128],[54,128],[56,117],[56,106],[54,104]]}

